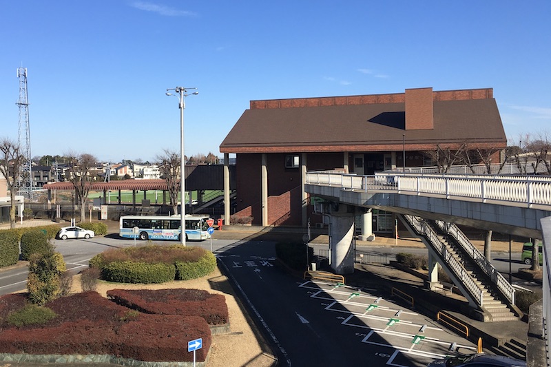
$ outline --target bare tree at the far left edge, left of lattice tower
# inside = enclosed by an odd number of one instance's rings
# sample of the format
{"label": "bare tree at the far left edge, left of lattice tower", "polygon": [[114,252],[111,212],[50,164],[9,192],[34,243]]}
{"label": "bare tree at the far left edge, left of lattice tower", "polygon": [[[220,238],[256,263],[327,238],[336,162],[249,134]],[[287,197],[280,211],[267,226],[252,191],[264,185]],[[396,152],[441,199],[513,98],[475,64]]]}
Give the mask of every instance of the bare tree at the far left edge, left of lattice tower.
{"label": "bare tree at the far left edge, left of lattice tower", "polygon": [[1,140],[0,151],[0,173],[6,178],[6,185],[10,190],[10,228],[15,228],[15,191],[25,156],[21,154],[21,147],[8,138]]}

